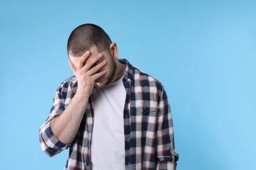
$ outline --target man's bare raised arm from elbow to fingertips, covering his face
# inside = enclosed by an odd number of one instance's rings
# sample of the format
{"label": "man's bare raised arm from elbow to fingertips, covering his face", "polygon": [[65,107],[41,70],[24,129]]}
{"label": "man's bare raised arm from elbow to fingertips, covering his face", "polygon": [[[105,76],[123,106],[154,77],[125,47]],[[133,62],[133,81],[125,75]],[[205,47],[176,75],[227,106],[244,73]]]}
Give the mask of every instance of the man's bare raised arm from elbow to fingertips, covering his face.
{"label": "man's bare raised arm from elbow to fingertips, covering his face", "polygon": [[81,58],[76,58],[76,60],[79,59],[76,67],[69,60],[70,67],[77,78],[77,92],[66,110],[51,122],[51,129],[54,135],[65,144],[72,143],[77,134],[89,101],[89,96],[93,92],[95,80],[106,74],[106,71],[97,73],[106,64],[106,61],[103,60],[98,65],[95,65],[95,67],[92,67],[102,58],[102,54],[93,57],[90,55],[91,53],[88,51]]}

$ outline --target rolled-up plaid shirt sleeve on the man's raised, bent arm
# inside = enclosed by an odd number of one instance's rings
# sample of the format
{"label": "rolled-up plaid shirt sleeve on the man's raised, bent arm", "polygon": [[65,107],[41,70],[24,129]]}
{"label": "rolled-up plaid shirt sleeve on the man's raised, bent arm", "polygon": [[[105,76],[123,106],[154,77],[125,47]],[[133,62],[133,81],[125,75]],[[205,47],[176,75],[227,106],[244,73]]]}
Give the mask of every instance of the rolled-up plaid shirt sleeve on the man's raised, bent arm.
{"label": "rolled-up plaid shirt sleeve on the man's raised, bent arm", "polygon": [[[47,118],[47,121],[40,127],[39,129],[39,141],[41,144],[41,148],[43,152],[45,152],[48,156],[54,156],[62,150],[65,150],[69,147],[68,144],[64,144],[58,140],[58,138],[53,134],[51,129],[51,120],[56,116],[59,116],[65,110],[65,98],[63,96],[67,94],[68,90],[65,90],[63,87],[65,84],[61,84],[60,87],[55,92],[55,96],[53,99],[53,107],[51,109],[51,114]],[[63,93],[63,91],[65,93]]]}

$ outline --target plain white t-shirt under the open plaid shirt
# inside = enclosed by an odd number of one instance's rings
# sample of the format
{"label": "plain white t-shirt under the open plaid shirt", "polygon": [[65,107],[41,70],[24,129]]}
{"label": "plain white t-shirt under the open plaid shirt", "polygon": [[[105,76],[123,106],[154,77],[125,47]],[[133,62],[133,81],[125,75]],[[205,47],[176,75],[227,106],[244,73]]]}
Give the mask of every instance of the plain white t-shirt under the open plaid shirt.
{"label": "plain white t-shirt under the open plaid shirt", "polygon": [[95,116],[91,140],[93,170],[125,169],[123,109],[126,92],[122,79],[94,90]]}

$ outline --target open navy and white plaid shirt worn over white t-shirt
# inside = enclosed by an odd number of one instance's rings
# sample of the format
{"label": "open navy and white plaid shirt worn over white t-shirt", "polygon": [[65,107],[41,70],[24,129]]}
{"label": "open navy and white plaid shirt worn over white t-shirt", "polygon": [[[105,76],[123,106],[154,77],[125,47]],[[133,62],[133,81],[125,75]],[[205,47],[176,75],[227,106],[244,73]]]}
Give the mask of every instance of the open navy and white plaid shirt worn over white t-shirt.
{"label": "open navy and white plaid shirt worn over white t-shirt", "polygon": [[[125,137],[125,169],[176,169],[171,109],[163,85],[155,78],[127,63],[123,76],[126,91],[123,110]],[[90,169],[90,144],[93,133],[93,95],[74,141],[60,142],[51,130],[51,120],[68,107],[77,90],[72,76],[62,82],[54,97],[51,114],[40,128],[41,147],[49,156],[70,148],[64,169]]]}

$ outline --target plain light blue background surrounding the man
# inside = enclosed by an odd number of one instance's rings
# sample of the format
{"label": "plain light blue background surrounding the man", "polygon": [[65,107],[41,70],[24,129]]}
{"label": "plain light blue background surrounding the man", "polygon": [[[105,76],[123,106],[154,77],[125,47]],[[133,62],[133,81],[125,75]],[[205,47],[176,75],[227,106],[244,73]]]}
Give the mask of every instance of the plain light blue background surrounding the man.
{"label": "plain light blue background surrounding the man", "polygon": [[164,84],[178,169],[256,169],[255,1],[1,0],[0,21],[0,169],[63,169],[68,152],[47,157],[38,132],[84,23]]}

